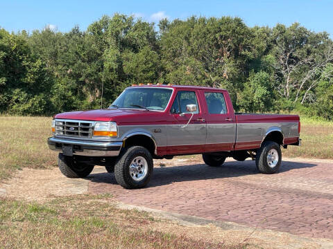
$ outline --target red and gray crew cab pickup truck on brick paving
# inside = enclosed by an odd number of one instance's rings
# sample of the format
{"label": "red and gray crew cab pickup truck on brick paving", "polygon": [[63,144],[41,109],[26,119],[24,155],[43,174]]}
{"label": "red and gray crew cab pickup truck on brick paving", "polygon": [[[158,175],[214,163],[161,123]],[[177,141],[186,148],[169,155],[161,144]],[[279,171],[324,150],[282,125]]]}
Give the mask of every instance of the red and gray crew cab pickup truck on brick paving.
{"label": "red and gray crew cab pickup truck on brick paving", "polygon": [[213,167],[252,158],[259,172],[278,172],[281,147],[300,145],[300,118],[234,113],[223,89],[144,85],[128,87],[108,109],[57,114],[52,132],[62,174],[86,177],[103,165],[133,189],[147,185],[153,158],[185,154],[202,154]]}

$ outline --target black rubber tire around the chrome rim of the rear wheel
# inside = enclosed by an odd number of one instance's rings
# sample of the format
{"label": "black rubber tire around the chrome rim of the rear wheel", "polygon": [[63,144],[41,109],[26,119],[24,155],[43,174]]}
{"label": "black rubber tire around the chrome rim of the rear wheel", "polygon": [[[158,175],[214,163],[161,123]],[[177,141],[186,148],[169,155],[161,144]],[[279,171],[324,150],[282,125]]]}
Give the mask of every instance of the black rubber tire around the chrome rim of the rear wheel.
{"label": "black rubber tire around the chrome rim of the rear wheel", "polygon": [[[275,165],[275,167],[269,167],[268,165],[268,152],[271,151],[271,149],[275,149],[278,151],[278,163]],[[274,174],[277,173],[282,160],[282,153],[281,153],[281,147],[277,142],[273,141],[266,141],[262,143],[262,147],[257,151],[257,155],[255,156],[255,165],[257,165],[257,169],[260,173],[263,174]]]}

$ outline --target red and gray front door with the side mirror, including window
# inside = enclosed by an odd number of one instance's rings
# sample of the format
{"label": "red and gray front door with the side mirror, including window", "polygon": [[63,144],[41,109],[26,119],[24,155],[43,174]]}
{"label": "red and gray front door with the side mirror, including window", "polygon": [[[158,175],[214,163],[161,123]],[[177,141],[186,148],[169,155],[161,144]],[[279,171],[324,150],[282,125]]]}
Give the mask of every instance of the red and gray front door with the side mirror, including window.
{"label": "red and gray front door with the side mirror, including window", "polygon": [[[167,154],[202,153],[206,142],[206,122],[198,91],[178,90],[169,115],[173,123],[168,125]],[[187,111],[187,104],[196,104],[197,111]],[[189,119],[191,121],[189,122]],[[187,124],[189,122],[189,124]]]}

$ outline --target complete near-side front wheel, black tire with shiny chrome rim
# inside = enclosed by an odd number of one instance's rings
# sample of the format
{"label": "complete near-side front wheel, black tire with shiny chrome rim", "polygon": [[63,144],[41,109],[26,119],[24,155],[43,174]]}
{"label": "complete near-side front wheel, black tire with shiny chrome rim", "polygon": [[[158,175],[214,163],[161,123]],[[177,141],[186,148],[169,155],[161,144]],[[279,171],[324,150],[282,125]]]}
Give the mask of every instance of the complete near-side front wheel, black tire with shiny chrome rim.
{"label": "complete near-side front wheel, black tire with shiny chrome rim", "polygon": [[114,165],[117,183],[127,189],[146,186],[152,174],[153,158],[148,149],[141,146],[126,148]]}

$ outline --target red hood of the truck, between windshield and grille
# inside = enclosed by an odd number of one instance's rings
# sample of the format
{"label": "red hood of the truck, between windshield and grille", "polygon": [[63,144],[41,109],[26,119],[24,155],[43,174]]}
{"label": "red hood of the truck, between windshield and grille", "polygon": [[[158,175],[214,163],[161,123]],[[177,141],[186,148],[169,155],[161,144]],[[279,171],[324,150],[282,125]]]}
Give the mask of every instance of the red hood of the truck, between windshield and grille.
{"label": "red hood of the truck, between windshield and grille", "polygon": [[143,109],[99,109],[91,111],[70,111],[54,118],[69,120],[113,121],[118,124],[137,124],[160,119],[163,112]]}

